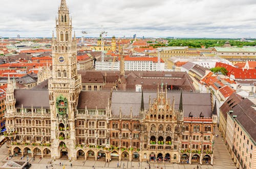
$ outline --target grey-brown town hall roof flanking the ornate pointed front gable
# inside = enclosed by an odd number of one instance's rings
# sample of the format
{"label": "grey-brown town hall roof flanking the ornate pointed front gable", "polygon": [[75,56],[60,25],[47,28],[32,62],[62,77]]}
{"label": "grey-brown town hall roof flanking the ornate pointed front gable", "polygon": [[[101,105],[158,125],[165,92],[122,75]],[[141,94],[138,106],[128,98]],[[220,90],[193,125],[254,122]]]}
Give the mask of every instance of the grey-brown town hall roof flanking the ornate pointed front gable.
{"label": "grey-brown town hall roof flanking the ornate pointed front gable", "polygon": [[[157,92],[144,92],[143,88],[143,102],[144,108],[148,109],[148,101],[151,95],[151,102],[157,97]],[[175,109],[179,108],[180,91],[168,91],[167,98],[173,100],[175,96]],[[200,117],[200,113],[204,117],[211,117],[211,100],[208,93],[191,93],[182,92],[182,103],[184,110],[184,117],[188,117],[191,112],[194,117]],[[123,115],[130,115],[131,107],[133,115],[139,115],[141,106],[141,92],[127,92],[127,91],[113,91],[111,107],[114,115],[119,115],[121,108]]]}

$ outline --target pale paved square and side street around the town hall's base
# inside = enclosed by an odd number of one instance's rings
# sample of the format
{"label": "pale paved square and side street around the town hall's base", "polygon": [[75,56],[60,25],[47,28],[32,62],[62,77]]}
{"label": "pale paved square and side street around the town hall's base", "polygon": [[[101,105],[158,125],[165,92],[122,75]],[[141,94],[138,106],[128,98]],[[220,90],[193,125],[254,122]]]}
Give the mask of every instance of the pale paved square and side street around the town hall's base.
{"label": "pale paved square and side street around the town hall's base", "polygon": [[[235,165],[231,159],[231,156],[229,155],[226,146],[224,144],[224,141],[221,137],[221,134],[218,129],[216,129],[216,134],[219,135],[219,137],[215,137],[215,144],[214,144],[214,165],[199,165],[199,169],[235,169]],[[0,165],[3,165],[3,160],[6,160],[6,158],[9,156],[8,148],[6,147],[6,143],[0,148]],[[13,159],[12,159],[13,160]],[[14,160],[20,160],[20,157],[14,157]],[[24,158],[24,161],[26,161],[27,158]],[[39,157],[36,157],[35,160],[32,158],[29,158],[29,162],[32,163],[31,169],[41,169],[41,168],[47,168],[51,169],[50,162],[53,165],[54,169],[80,169],[80,168],[92,168],[93,166],[95,169],[100,168],[110,168],[110,169],[116,169],[116,168],[133,168],[133,169],[197,169],[197,164],[172,164],[172,163],[158,163],[158,162],[150,162],[147,164],[146,162],[129,162],[129,161],[111,161],[106,163],[105,161],[90,161],[90,160],[75,160],[72,161],[72,167],[71,162],[67,159],[57,159],[56,161],[50,160],[50,158],[43,158],[40,159]],[[59,165],[59,163],[61,163]],[[64,165],[64,167],[62,166]],[[118,164],[118,167],[117,167]],[[149,167],[149,165],[151,167]]]}

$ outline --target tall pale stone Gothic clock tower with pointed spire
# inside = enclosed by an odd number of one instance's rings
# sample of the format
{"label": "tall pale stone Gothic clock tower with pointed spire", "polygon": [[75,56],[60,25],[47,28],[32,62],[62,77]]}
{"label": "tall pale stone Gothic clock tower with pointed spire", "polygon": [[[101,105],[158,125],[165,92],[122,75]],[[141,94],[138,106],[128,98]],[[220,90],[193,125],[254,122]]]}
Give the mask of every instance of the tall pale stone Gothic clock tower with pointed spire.
{"label": "tall pale stone Gothic clock tower with pointed spire", "polygon": [[76,159],[75,112],[81,91],[77,75],[76,38],[66,0],[61,0],[56,18],[56,39],[52,37],[52,78],[49,79],[52,158],[67,155]]}

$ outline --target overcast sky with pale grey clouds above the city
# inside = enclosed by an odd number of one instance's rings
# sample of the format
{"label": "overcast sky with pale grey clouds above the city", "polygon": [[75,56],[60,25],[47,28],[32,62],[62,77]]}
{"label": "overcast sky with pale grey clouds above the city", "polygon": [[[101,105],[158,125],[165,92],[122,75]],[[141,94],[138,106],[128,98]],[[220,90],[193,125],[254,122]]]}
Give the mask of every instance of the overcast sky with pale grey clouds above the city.
{"label": "overcast sky with pale grey clouds above the city", "polygon": [[[256,37],[255,0],[66,0],[76,36]],[[1,0],[0,36],[51,37],[60,0]]]}

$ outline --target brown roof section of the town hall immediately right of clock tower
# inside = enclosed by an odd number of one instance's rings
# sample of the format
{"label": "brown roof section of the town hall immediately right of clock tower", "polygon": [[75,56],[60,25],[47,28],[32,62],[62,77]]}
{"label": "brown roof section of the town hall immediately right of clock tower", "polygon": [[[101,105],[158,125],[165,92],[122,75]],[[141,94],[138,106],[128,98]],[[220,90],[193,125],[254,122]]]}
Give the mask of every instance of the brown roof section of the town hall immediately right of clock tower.
{"label": "brown roof section of the town hall immediately right of clock tower", "polygon": [[105,109],[108,106],[108,99],[110,99],[111,91],[81,91],[77,109]]}

